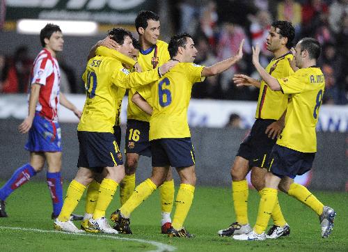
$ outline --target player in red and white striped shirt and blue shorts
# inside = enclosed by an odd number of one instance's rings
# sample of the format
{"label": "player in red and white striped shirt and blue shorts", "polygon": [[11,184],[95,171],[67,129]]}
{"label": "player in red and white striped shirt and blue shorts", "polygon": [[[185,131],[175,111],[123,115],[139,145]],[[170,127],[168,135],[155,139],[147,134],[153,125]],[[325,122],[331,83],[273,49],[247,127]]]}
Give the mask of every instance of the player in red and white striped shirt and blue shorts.
{"label": "player in red and white striped shirt and blue shorts", "polygon": [[[63,50],[63,34],[59,26],[47,24],[40,32],[42,51],[35,58],[29,88],[29,115],[19,132],[29,132],[25,145],[30,162],[13,173],[0,189],[0,217],[6,217],[4,200],[18,187],[48,164],[47,184],[52,196],[52,218],[56,218],[63,205],[61,179],[61,127],[58,124],[58,106],[62,104],[80,118],[79,111],[62,93],[59,93],[61,72],[56,53]],[[76,217],[76,216],[75,216]]]}

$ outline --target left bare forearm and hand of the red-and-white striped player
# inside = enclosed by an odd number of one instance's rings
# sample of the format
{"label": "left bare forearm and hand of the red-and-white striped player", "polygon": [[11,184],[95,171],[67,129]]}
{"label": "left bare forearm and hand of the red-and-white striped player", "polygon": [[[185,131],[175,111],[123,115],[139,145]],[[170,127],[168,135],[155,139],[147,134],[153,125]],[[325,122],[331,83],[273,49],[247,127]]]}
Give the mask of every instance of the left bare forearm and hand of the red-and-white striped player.
{"label": "left bare forearm and hand of the red-and-white striped player", "polygon": [[38,83],[31,84],[29,95],[29,113],[28,116],[24,119],[23,123],[21,123],[18,127],[19,132],[22,134],[29,132],[31,125],[33,125],[36,104],[39,100],[40,88],[41,85]]}

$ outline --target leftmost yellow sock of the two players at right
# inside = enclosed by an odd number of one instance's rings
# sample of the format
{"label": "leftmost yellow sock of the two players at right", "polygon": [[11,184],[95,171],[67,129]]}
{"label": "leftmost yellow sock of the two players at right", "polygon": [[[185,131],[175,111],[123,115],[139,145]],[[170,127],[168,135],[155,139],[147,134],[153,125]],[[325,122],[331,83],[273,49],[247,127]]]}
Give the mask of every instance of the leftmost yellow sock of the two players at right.
{"label": "leftmost yellow sock of the two players at right", "polygon": [[232,200],[235,206],[236,221],[241,225],[249,223],[248,195],[249,189],[246,180],[232,181]]}

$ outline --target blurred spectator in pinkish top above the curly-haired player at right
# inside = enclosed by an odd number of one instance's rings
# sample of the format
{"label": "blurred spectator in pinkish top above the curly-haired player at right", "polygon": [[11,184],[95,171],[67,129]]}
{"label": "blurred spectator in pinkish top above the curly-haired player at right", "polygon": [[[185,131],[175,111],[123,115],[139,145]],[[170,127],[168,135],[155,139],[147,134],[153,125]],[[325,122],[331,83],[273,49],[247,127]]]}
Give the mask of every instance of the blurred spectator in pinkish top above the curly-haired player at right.
{"label": "blurred spectator in pinkish top above the curly-haired player at right", "polygon": [[295,40],[301,37],[301,4],[294,0],[283,0],[277,6],[277,19],[292,22],[295,28]]}

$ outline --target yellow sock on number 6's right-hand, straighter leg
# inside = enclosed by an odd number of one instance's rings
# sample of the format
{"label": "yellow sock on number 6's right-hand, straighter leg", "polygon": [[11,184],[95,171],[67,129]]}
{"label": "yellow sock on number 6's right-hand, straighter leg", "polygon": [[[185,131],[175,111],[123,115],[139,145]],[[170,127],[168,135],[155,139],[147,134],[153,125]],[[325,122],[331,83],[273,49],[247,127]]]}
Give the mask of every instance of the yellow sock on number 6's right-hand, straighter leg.
{"label": "yellow sock on number 6's right-hand, straighter leg", "polygon": [[181,230],[187,214],[191,208],[195,187],[191,184],[180,184],[176,196],[176,209],[172,226],[175,230]]}

